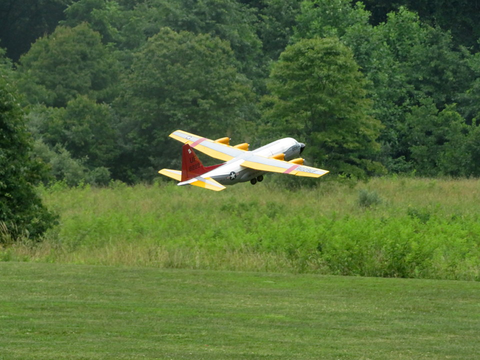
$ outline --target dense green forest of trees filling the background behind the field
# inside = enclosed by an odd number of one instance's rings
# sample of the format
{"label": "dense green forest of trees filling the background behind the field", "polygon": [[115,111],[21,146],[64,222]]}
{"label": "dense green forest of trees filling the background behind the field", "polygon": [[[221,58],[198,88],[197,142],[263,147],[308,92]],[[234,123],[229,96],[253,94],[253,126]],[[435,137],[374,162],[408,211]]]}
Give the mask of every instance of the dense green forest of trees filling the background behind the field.
{"label": "dense green forest of trees filling the background behind the field", "polygon": [[479,9],[3,0],[0,91],[45,182],[151,181],[180,167],[178,128],[252,146],[292,136],[332,177],[478,176]]}

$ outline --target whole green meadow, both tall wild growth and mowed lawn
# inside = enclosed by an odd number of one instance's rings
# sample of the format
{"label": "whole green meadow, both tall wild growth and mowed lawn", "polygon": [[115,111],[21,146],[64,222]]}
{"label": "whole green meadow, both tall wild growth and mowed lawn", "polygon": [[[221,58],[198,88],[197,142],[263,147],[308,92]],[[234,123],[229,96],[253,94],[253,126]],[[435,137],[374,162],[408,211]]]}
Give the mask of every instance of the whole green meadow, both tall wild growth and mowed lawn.
{"label": "whole green meadow, both tall wild growth and mowed lawn", "polygon": [[59,224],[0,247],[0,360],[480,358],[478,180],[39,191]]}

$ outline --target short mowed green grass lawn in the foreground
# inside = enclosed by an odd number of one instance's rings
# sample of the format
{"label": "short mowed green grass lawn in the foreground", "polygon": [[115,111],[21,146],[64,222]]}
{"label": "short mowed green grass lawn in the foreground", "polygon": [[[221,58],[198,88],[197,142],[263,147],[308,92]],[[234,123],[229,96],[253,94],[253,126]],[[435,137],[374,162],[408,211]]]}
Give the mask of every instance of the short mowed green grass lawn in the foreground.
{"label": "short mowed green grass lawn in the foreground", "polygon": [[0,359],[476,359],[480,283],[0,263]]}

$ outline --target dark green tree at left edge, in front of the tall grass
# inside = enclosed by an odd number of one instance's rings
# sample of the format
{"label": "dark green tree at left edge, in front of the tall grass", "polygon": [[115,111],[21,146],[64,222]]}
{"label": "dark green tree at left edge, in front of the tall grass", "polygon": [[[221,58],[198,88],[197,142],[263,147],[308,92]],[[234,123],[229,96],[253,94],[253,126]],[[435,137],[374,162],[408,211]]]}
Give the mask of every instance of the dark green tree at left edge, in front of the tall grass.
{"label": "dark green tree at left edge, in front of the tall grass", "polygon": [[0,76],[0,242],[7,237],[38,238],[56,221],[33,187],[45,169],[30,157],[30,148],[18,96]]}

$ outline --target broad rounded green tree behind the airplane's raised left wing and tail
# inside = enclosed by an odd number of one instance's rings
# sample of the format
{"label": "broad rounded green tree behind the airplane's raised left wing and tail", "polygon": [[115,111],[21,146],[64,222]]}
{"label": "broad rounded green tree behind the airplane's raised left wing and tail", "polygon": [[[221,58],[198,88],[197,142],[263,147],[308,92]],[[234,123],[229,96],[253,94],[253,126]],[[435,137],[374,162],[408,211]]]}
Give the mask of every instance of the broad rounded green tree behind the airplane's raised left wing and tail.
{"label": "broad rounded green tree behind the airplane's raised left wing and tail", "polygon": [[177,128],[208,136],[244,133],[253,93],[234,67],[226,41],[163,28],[135,54],[115,102],[124,153],[116,176],[151,178],[160,165],[179,165],[166,135]]}

